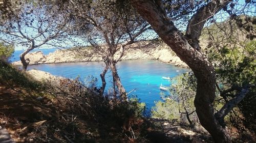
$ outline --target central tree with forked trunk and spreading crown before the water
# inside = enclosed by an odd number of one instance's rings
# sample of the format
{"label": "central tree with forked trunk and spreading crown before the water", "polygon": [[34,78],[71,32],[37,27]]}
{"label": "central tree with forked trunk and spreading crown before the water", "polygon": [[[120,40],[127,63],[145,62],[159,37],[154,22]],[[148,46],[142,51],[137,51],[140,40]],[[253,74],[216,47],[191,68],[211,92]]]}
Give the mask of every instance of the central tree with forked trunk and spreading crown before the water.
{"label": "central tree with forked trunk and spreading crown before the water", "polygon": [[[65,6],[64,6],[65,7]],[[120,9],[120,7],[124,9]],[[149,42],[150,25],[137,13],[131,5],[119,1],[72,1],[66,4],[71,21],[76,25],[76,35],[80,36],[92,47],[84,55],[93,58],[98,56],[105,63],[100,74],[102,94],[105,89],[105,73],[112,71],[114,89],[117,87],[122,100],[127,99],[126,91],[121,83],[116,64],[128,49],[140,49]],[[153,37],[154,38],[154,37]],[[136,45],[133,45],[137,43]]]}

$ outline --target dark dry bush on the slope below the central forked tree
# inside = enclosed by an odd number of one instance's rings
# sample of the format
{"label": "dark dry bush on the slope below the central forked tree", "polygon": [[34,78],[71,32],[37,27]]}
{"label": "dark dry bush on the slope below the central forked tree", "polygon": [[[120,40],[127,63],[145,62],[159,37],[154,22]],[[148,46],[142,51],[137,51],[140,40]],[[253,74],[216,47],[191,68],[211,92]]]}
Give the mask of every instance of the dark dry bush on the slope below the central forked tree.
{"label": "dark dry bush on the slope below the central forked tree", "polygon": [[102,96],[91,90],[94,89],[91,86],[84,87],[79,78],[45,81],[45,84],[47,93],[61,103],[61,109],[90,123],[86,128],[90,128],[91,135],[87,138],[95,142],[141,142],[145,139],[147,123],[142,117],[145,103],[137,98],[121,102],[110,95]]}

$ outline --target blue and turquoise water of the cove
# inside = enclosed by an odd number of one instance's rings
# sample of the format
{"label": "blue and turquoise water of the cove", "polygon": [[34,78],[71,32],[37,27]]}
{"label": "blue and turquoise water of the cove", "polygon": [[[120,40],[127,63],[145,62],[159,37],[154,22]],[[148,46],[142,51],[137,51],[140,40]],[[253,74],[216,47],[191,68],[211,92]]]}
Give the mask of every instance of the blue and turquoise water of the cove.
{"label": "blue and turquoise water of the cove", "polygon": [[[99,74],[103,65],[102,62],[41,64],[29,66],[28,70],[42,70],[53,75],[72,79],[77,76],[85,79],[93,75],[98,79],[98,87],[100,87]],[[163,91],[160,91],[160,85],[168,87],[171,84],[169,80],[162,79],[162,76],[175,77],[188,71],[185,68],[163,64],[155,60],[121,61],[117,64],[117,70],[126,92],[136,89],[130,95],[135,95],[141,102],[145,102],[148,109],[154,106],[155,101],[161,100],[160,93]],[[106,81],[108,81],[107,88],[109,88],[113,81],[110,72],[106,74]],[[165,94],[168,94],[168,92],[165,92]]]}

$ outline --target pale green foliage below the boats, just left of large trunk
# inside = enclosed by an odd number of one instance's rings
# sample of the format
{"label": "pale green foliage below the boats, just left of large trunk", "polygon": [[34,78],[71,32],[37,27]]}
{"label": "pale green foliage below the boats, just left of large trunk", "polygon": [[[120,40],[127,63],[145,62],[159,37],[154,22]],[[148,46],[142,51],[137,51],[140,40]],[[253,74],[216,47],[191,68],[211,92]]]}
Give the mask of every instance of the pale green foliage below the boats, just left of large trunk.
{"label": "pale green foliage below the boats, just left of large trunk", "polygon": [[195,110],[196,78],[191,73],[184,73],[172,79],[170,95],[164,96],[165,101],[158,101],[152,109],[153,118],[178,120],[181,113]]}

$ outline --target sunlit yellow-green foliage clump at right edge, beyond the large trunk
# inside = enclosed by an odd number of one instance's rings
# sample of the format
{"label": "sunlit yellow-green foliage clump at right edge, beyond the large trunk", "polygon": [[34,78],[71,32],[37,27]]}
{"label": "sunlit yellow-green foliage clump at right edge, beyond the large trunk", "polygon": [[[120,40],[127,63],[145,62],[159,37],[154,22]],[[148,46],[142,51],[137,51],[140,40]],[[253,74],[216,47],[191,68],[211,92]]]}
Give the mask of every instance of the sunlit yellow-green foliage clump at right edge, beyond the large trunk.
{"label": "sunlit yellow-green foliage clump at right edge, beyond the large trunk", "polygon": [[211,53],[211,59],[218,62],[217,76],[224,84],[244,85],[255,83],[256,79],[256,41],[247,43],[244,48],[223,47],[220,54]]}

